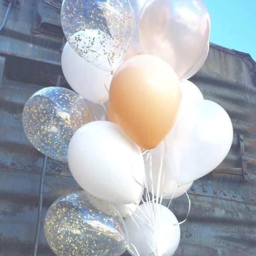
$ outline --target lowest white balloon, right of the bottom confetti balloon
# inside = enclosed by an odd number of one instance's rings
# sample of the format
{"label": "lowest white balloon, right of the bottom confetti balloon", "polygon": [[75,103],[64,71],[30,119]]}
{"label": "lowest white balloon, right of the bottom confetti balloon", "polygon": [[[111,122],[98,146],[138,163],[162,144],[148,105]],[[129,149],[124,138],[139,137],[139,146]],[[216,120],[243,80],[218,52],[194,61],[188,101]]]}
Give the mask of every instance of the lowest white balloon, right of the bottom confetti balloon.
{"label": "lowest white balloon, right of the bottom confetti balloon", "polygon": [[[165,206],[156,204],[158,218],[149,222],[151,216],[148,208],[152,203],[140,204],[134,215],[125,219],[129,242],[133,244],[140,256],[171,256],[180,242],[180,226],[175,215]],[[136,223],[135,223],[136,222]],[[128,249],[137,256],[134,248]]]}

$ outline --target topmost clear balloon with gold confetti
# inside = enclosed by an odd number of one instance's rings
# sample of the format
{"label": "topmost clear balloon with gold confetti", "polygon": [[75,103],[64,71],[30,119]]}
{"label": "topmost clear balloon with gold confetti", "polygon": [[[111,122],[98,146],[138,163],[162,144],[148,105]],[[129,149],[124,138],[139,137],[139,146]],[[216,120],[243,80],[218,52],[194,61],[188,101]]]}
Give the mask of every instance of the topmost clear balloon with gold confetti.
{"label": "topmost clear balloon with gold confetti", "polygon": [[134,17],[129,0],[64,0],[61,25],[81,57],[112,71],[128,49]]}

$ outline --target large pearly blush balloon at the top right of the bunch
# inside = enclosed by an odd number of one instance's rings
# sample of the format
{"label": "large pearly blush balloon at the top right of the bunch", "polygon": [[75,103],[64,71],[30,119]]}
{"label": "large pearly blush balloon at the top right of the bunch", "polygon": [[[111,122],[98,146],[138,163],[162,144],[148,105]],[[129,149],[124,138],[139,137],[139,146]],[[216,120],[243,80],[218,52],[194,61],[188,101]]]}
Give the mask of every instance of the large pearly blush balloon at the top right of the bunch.
{"label": "large pearly blush balloon at the top right of the bunch", "polygon": [[179,78],[203,54],[209,32],[210,18],[202,0],[148,0],[143,6],[139,23],[143,50],[167,61]]}

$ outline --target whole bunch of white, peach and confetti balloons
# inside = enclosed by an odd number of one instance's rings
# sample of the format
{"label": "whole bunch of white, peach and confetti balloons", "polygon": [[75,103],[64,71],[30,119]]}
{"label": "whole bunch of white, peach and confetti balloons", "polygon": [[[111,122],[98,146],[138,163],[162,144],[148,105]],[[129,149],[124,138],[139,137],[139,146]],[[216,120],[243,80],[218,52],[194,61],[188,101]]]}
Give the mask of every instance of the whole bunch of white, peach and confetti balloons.
{"label": "whole bunch of white, peach and confetti balloons", "polygon": [[[226,111],[186,80],[208,55],[207,8],[202,0],[64,0],[61,24],[61,66],[78,94],[39,90],[23,127],[35,148],[68,162],[84,191],[49,208],[48,244],[58,256],[172,255],[180,223],[163,199],[187,195],[233,140]],[[85,99],[105,111],[109,99],[109,121],[93,121]]]}

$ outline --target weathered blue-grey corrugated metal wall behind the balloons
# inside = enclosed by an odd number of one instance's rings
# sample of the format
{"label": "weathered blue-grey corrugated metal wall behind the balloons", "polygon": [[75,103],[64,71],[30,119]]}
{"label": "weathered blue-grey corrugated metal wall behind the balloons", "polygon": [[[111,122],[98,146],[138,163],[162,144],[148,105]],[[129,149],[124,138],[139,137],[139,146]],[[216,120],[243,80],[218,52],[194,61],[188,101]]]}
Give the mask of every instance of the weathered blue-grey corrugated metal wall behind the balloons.
{"label": "weathered blue-grey corrugated metal wall behind the balloons", "polygon": [[[0,20],[5,11],[0,3]],[[43,156],[26,139],[21,114],[32,93],[62,75],[58,11],[47,1],[37,6],[34,0],[23,0],[18,9],[12,8],[0,33],[0,256],[29,256],[33,251]],[[54,29],[59,36],[52,35]],[[205,99],[227,110],[235,133],[226,160],[189,190],[191,212],[181,226],[175,256],[255,256],[256,63],[250,55],[211,44],[192,81]],[[238,134],[244,135],[246,179]],[[49,159],[43,215],[56,198],[77,189],[67,165]],[[180,220],[187,207],[184,196],[171,206]],[[53,255],[41,230],[38,256]]]}

